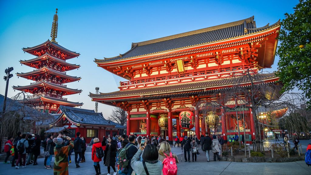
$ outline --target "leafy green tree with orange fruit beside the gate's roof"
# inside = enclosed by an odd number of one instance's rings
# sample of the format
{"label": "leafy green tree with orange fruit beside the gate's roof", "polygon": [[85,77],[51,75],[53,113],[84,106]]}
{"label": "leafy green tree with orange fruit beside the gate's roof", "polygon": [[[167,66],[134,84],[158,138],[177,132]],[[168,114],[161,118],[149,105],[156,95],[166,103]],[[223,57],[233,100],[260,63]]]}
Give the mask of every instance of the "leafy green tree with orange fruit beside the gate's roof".
{"label": "leafy green tree with orange fruit beside the gate's roof", "polygon": [[284,84],[284,91],[298,87],[310,104],[311,0],[300,0],[294,9],[293,14],[285,13],[286,18],[281,21],[281,43],[276,52],[280,56],[277,75]]}

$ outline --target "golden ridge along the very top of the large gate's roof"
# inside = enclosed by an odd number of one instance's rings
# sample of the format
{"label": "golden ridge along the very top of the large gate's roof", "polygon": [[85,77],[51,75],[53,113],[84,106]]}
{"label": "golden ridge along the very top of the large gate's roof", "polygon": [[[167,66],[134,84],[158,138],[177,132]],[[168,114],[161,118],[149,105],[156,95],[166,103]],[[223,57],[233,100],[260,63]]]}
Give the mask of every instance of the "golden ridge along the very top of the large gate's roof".
{"label": "golden ridge along the very top of the large gate's roof", "polygon": [[188,32],[180,33],[180,34],[165,36],[165,37],[161,37],[161,38],[157,38],[157,39],[153,39],[153,40],[147,40],[147,41],[142,41],[142,42],[138,42],[138,43],[132,43],[132,48],[135,45],[141,46],[141,45],[147,45],[147,44],[156,43],[156,42],[160,42],[160,41],[171,40],[171,39],[179,38],[179,37],[183,37],[183,36],[194,35],[194,34],[199,34],[199,33],[207,32],[207,31],[213,31],[213,30],[222,29],[222,28],[226,28],[226,27],[236,26],[239,24],[243,24],[244,21],[254,22],[253,20],[254,20],[254,16],[248,17],[246,19],[242,19],[239,21],[220,24],[217,26],[211,26],[211,27],[207,27],[207,28],[203,28],[203,29],[194,30],[194,31],[188,31]]}

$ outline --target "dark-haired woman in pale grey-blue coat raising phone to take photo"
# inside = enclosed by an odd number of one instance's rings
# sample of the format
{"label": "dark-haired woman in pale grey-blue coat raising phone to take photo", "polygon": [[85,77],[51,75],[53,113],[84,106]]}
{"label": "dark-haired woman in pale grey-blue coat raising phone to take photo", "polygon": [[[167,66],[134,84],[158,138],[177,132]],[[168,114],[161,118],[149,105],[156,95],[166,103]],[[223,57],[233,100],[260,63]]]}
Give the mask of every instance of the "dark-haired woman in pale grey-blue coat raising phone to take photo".
{"label": "dark-haired woman in pale grey-blue coat raising phone to take photo", "polygon": [[[143,154],[142,150],[144,150]],[[141,154],[143,159],[142,162],[140,161]],[[159,153],[156,146],[153,144],[147,144],[145,142],[145,145],[139,145],[137,153],[132,158],[131,167],[137,175],[146,175],[146,171],[150,175],[161,175],[163,165],[162,162],[158,160],[158,158]]]}

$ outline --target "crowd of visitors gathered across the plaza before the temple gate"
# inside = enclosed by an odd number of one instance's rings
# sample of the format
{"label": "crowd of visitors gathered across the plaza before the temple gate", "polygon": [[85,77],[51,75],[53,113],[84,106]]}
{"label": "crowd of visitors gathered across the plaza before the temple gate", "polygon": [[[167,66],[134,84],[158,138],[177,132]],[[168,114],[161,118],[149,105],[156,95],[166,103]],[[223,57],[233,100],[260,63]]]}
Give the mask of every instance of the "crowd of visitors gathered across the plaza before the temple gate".
{"label": "crowd of visitors gathered across the plaza before the temple gate", "polygon": [[[55,135],[56,136],[56,135]],[[282,135],[283,136],[283,135]],[[244,138],[242,137],[242,142]],[[239,140],[235,135],[230,142]],[[293,142],[297,149],[299,137],[296,133],[293,135]],[[288,144],[288,137],[284,134],[284,143]],[[220,159],[220,148],[224,144],[222,135],[209,136],[201,135],[198,140],[197,135],[176,137],[174,147],[179,147],[184,153],[184,161],[190,162],[190,153],[192,162],[197,161],[199,154],[199,145],[205,152],[207,162],[210,161],[210,151],[214,155],[214,161]],[[39,135],[26,135],[17,133],[17,137],[13,139],[8,137],[5,143],[4,151],[7,156],[4,163],[8,163],[10,155],[12,155],[12,167],[19,169],[20,166],[25,168],[26,165],[38,165],[37,158],[40,155],[40,146],[44,148],[44,167],[53,169],[54,174],[68,174],[68,166],[71,163],[71,154],[74,152],[74,161],[76,168],[80,168],[80,163],[86,161],[85,151],[87,148],[86,140],[81,137],[80,133],[76,133],[74,141],[67,135],[58,134],[56,138],[48,135],[45,140],[40,140]],[[91,159],[93,161],[96,175],[101,174],[100,162],[107,167],[110,175],[110,167],[113,175],[123,174],[167,174],[168,171],[177,172],[179,163],[178,157],[172,153],[170,144],[164,137],[145,137],[137,135],[121,135],[100,138],[93,137],[89,146],[91,146]],[[26,154],[28,157],[26,159]],[[53,155],[55,156],[54,164],[51,165]],[[173,163],[172,163],[173,162]],[[174,174],[174,173],[173,173]]]}

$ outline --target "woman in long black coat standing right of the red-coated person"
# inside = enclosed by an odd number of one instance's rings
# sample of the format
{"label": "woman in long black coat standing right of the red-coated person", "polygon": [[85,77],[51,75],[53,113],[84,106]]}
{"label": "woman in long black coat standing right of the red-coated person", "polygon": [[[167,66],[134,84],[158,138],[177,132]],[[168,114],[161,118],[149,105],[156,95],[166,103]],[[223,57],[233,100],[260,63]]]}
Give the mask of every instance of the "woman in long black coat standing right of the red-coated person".
{"label": "woman in long black coat standing right of the red-coated person", "polygon": [[116,163],[116,156],[117,156],[117,144],[112,141],[112,137],[108,137],[108,144],[106,146],[106,160],[105,160],[105,166],[108,169],[108,174],[110,175],[110,167],[114,170],[114,175],[117,174],[115,163]]}

